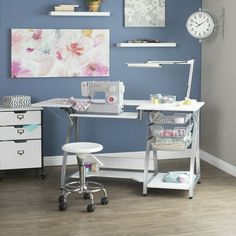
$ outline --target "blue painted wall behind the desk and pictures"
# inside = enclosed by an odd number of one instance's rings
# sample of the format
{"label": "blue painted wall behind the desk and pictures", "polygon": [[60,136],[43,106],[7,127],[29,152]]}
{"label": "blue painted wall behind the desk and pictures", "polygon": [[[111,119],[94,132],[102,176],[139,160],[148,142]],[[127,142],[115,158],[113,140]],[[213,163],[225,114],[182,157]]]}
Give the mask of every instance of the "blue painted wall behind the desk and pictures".
{"label": "blue painted wall behind the desk and pictures", "polygon": [[[83,2],[81,0],[81,2]],[[54,97],[81,97],[80,82],[93,78],[10,79],[11,28],[104,28],[110,29],[110,80],[124,81],[126,99],[149,99],[151,93],[168,93],[183,99],[188,67],[167,66],[163,69],[127,68],[126,62],[152,60],[186,60],[195,58],[192,98],[200,97],[200,45],[191,38],[185,23],[201,6],[201,0],[166,0],[165,28],[125,28],[123,0],[104,0],[102,10],[110,17],[51,17],[48,11],[57,4],[71,0],[1,0],[0,12],[0,96],[26,94],[33,102]],[[83,5],[83,4],[81,4]],[[176,42],[176,48],[116,48],[115,43],[129,39],[150,38]],[[98,78],[97,80],[107,79]],[[45,155],[61,154],[65,141],[66,121],[62,111],[44,113]],[[81,120],[82,141],[97,141],[104,152],[139,151],[145,148],[145,122],[127,120]]]}

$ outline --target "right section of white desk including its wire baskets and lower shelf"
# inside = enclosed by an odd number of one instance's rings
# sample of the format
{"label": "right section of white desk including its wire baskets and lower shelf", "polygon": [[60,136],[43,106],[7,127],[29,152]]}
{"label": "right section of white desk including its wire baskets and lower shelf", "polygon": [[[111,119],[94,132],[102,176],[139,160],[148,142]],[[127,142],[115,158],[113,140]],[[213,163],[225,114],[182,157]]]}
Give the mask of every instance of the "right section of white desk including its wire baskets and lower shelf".
{"label": "right section of white desk including its wire baskets and lower shelf", "polygon": [[[188,190],[189,198],[200,182],[199,125],[203,102],[192,105],[145,104],[137,107],[148,116],[147,144],[144,162],[143,194],[148,188]],[[153,152],[154,173],[150,177],[149,161]],[[185,183],[164,182],[166,173],[158,170],[158,159],[190,158],[189,180]],[[196,170],[195,170],[196,164]]]}

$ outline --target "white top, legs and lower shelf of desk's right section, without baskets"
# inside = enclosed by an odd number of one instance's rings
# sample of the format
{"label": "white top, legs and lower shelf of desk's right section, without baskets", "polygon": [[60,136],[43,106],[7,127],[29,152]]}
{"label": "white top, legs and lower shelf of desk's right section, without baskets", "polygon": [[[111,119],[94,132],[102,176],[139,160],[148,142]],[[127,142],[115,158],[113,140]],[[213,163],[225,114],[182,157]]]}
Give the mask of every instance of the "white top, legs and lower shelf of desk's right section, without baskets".
{"label": "white top, legs and lower shelf of desk's right section, without baskets", "polygon": [[[137,110],[140,113],[145,112],[149,113],[151,111],[166,111],[166,112],[184,112],[184,113],[192,113],[193,117],[193,136],[192,136],[192,148],[183,150],[183,151],[161,151],[161,150],[152,150],[151,142],[147,139],[146,144],[146,154],[145,154],[145,163],[144,163],[144,182],[143,182],[143,194],[147,194],[148,188],[165,188],[165,189],[179,189],[179,190],[189,190],[189,198],[193,197],[193,189],[197,183],[200,182],[201,172],[200,172],[200,156],[199,156],[199,126],[200,126],[200,109],[204,105],[203,102],[197,102],[193,105],[181,105],[176,106],[172,104],[159,104],[152,105],[146,104],[137,107]],[[153,164],[154,164],[154,173],[150,177],[149,173],[149,160],[150,160],[150,152],[153,151]],[[158,170],[158,157],[162,154],[168,152],[171,159],[178,158],[190,158],[190,177],[189,183],[165,183],[162,181],[164,173],[159,173]],[[169,158],[170,159],[170,158]],[[196,173],[195,171],[195,163],[196,163]]]}

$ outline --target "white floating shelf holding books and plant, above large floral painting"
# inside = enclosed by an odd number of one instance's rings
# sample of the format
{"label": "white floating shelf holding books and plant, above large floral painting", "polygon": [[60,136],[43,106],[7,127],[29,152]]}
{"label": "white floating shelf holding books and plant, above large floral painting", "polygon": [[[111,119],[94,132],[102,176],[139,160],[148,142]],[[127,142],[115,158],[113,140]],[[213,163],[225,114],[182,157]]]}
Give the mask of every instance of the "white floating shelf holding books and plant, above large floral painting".
{"label": "white floating shelf holding books and plant, above large floral painting", "polygon": [[110,12],[50,11],[50,16],[110,16]]}

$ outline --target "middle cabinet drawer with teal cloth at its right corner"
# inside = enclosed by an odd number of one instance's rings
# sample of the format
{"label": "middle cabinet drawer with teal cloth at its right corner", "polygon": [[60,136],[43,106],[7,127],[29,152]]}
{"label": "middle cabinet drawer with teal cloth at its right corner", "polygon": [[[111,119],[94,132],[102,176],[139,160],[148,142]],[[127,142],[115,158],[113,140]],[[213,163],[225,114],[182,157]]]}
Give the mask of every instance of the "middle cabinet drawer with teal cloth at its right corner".
{"label": "middle cabinet drawer with teal cloth at its right corner", "polygon": [[0,140],[21,140],[21,139],[40,139],[41,125],[38,125],[32,131],[25,126],[5,126],[0,127]]}

